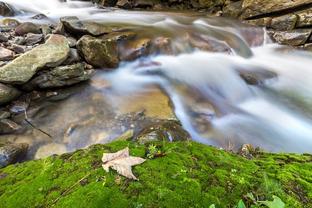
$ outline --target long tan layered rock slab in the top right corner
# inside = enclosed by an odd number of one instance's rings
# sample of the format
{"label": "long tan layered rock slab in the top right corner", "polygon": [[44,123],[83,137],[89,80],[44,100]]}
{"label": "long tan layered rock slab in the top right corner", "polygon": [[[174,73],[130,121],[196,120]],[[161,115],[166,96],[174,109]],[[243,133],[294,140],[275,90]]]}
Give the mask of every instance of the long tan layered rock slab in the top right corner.
{"label": "long tan layered rock slab in the top right corner", "polygon": [[298,7],[312,0],[244,0],[239,18],[246,19],[262,14]]}

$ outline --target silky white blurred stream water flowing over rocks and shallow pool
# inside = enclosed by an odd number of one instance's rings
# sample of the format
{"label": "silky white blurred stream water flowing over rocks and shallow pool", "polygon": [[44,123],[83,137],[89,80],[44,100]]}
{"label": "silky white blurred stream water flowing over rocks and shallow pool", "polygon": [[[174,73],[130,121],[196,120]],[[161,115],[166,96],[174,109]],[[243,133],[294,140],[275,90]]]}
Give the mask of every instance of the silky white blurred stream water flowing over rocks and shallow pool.
{"label": "silky white blurred stream water flowing over rocks and shallow pool", "polygon": [[[38,111],[31,122],[53,138],[32,127],[22,135],[0,137],[29,143],[26,160],[111,142],[126,130],[138,128],[131,123],[131,112],[146,108],[145,122],[149,123],[153,119],[148,118],[161,118],[158,106],[171,102],[195,141],[225,149],[230,141],[238,146],[252,143],[265,151],[312,153],[311,53],[285,50],[266,36],[248,37],[241,22],[200,12],[98,9],[90,2],[70,0],[7,3],[18,10],[13,18],[20,22],[57,24],[59,17],[74,15],[115,30],[134,31],[136,38],[170,38],[174,54],[155,52],[147,58],[121,62],[112,71],[97,69],[90,81],[65,89],[71,93],[67,99],[31,104]],[[48,19],[30,20],[38,13]],[[232,51],[225,54],[193,48],[189,31],[225,40]],[[246,38],[264,41],[250,47]],[[247,85],[238,69],[266,69],[278,76],[262,85]],[[71,125],[79,128],[66,138]]]}

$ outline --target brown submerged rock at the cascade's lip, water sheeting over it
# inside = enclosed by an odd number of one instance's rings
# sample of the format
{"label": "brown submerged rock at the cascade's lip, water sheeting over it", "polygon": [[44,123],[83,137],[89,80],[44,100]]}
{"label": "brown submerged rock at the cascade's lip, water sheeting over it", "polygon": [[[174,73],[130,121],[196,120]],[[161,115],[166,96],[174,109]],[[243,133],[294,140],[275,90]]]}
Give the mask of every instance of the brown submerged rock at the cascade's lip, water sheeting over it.
{"label": "brown submerged rock at the cascade's lip, water sheeting over it", "polygon": [[230,53],[231,47],[222,40],[205,34],[190,34],[189,38],[193,47],[203,51]]}

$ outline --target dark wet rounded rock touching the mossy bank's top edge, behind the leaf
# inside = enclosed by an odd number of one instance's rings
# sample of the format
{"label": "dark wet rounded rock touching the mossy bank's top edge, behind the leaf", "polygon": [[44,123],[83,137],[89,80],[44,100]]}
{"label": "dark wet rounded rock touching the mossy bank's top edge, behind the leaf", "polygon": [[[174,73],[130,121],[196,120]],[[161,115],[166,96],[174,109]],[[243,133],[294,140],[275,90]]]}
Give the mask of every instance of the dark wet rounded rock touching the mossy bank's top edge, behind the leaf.
{"label": "dark wet rounded rock touching the mossy bank's top edge, behind the leaf", "polygon": [[164,120],[143,127],[138,133],[136,140],[149,142],[153,140],[162,141],[163,138],[167,142],[178,142],[190,140],[191,136],[180,125]]}

